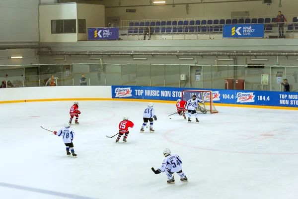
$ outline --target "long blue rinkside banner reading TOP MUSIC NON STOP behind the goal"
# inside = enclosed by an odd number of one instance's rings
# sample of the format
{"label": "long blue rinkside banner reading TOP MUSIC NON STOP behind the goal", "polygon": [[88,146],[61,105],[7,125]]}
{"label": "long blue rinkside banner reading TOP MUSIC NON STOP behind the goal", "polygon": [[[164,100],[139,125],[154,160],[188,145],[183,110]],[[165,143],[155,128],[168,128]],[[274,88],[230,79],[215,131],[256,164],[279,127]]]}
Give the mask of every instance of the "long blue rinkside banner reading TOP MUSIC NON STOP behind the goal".
{"label": "long blue rinkside banner reading TOP MUSIC NON STOP behind the goal", "polygon": [[[183,90],[198,90],[192,88],[170,87],[135,87],[135,86],[112,86],[112,98],[142,99],[142,100],[169,100],[182,99]],[[207,90],[207,89],[200,89]],[[298,93],[273,92],[273,91],[241,91],[208,89],[213,92],[214,103],[248,104],[266,106],[298,107]],[[184,93],[185,100],[191,98],[192,92]],[[199,93],[195,93],[200,97]],[[201,99],[210,101],[211,96],[204,93]]]}

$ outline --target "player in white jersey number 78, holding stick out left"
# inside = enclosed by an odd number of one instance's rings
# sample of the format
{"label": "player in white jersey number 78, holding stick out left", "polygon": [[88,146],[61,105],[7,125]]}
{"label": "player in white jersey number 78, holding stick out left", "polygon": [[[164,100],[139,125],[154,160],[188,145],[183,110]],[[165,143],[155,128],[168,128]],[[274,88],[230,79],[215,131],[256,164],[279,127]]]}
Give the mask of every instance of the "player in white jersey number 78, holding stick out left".
{"label": "player in white jersey number 78, holding stick out left", "polygon": [[[57,134],[58,133],[58,134]],[[66,145],[66,154],[70,156],[72,152],[73,157],[76,158],[76,154],[74,153],[74,129],[71,128],[70,122],[65,123],[64,128],[61,128],[58,132],[54,131],[55,135],[61,136],[63,138],[63,142]]]}

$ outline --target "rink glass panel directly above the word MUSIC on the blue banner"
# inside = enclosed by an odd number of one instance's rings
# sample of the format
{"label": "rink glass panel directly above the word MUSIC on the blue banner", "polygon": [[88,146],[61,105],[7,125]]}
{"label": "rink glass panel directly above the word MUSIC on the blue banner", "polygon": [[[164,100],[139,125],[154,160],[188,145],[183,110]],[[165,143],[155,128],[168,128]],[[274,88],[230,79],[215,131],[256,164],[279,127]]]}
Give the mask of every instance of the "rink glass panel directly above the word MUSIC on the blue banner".
{"label": "rink glass panel directly above the word MUSIC on the blue banner", "polygon": [[152,87],[164,87],[164,73],[164,65],[150,65],[150,77]]}

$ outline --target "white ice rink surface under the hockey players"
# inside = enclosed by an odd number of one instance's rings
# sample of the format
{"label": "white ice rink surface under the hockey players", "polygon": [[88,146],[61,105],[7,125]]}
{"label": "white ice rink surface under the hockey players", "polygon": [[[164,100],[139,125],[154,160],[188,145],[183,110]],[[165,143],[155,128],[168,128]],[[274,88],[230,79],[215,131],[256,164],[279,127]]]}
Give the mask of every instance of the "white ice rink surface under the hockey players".
{"label": "white ice rink surface under the hockey players", "polygon": [[[175,104],[154,103],[154,133],[140,133],[147,102],[79,101],[77,158],[58,131],[73,101],[0,104],[1,199],[298,199],[297,111],[217,106],[187,123]],[[115,143],[123,115],[135,123]],[[122,137],[123,138],[123,137]],[[121,139],[122,140],[122,139]],[[189,182],[167,185],[155,169],[164,148]]]}

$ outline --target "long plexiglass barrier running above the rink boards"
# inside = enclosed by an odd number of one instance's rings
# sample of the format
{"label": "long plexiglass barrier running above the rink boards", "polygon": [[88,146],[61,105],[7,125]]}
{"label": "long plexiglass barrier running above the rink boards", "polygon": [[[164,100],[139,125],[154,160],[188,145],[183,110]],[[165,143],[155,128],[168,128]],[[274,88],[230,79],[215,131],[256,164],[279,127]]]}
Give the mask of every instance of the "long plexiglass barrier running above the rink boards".
{"label": "long plexiglass barrier running above the rink boards", "polygon": [[[9,66],[5,66],[7,68]],[[202,89],[298,91],[298,66],[189,64],[39,64],[0,69],[0,88],[46,86],[149,86]]]}

